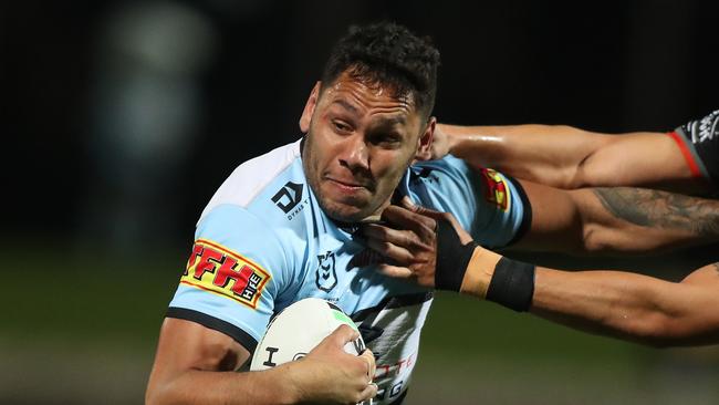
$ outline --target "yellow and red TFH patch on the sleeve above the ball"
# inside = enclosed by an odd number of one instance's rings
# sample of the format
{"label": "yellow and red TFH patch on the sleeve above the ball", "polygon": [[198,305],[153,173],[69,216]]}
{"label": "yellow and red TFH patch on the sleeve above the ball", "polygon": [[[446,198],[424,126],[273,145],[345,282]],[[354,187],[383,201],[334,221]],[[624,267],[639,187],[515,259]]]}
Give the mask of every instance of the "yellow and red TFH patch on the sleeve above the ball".
{"label": "yellow and red TFH patch on the sleeve above the ball", "polygon": [[242,255],[219,243],[198,239],[180,283],[209,291],[257,308],[270,273]]}

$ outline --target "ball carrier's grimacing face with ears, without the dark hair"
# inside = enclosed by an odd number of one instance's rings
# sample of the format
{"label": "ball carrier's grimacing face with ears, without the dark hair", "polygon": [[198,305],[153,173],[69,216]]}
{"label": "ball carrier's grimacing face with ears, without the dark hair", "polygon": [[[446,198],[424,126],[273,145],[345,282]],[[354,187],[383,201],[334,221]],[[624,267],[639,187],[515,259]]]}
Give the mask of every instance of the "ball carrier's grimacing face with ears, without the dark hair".
{"label": "ball carrier's grimacing face with ears, without the dark hair", "polygon": [[425,125],[414,101],[346,73],[317,92],[301,120],[310,187],[335,220],[378,217],[420,147]]}

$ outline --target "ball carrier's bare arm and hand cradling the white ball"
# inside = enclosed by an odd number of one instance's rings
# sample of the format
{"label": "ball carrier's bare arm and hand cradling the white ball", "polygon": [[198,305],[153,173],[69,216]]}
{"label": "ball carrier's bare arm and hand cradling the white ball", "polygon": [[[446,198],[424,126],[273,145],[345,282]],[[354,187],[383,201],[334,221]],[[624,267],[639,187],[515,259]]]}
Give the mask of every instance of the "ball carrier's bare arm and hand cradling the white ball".
{"label": "ball carrier's bare arm and hand cradling the white ball", "polygon": [[301,362],[237,373],[250,352],[232,338],[191,321],[165,320],[146,393],[147,404],[358,403],[376,394],[368,384],[369,352],[343,351],[357,338],[341,326]]}

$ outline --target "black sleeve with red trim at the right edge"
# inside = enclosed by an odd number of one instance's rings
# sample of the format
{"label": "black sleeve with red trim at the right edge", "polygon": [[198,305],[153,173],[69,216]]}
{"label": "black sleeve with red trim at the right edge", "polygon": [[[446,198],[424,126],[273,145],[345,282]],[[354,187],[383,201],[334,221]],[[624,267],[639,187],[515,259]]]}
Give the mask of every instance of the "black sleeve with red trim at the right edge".
{"label": "black sleeve with red trim at the right edge", "polygon": [[674,134],[692,174],[719,185],[719,110],[681,125]]}

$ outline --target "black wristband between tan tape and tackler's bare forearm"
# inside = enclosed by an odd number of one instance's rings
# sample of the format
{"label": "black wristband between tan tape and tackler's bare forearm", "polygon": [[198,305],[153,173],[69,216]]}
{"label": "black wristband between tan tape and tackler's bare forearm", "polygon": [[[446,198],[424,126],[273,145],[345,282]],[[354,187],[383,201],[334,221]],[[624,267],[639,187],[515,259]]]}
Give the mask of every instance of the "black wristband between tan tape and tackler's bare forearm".
{"label": "black wristband between tan tape and tackler's bare forearm", "polygon": [[518,312],[528,311],[534,295],[534,264],[502,257],[487,289],[487,300]]}

